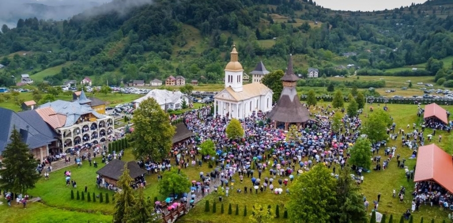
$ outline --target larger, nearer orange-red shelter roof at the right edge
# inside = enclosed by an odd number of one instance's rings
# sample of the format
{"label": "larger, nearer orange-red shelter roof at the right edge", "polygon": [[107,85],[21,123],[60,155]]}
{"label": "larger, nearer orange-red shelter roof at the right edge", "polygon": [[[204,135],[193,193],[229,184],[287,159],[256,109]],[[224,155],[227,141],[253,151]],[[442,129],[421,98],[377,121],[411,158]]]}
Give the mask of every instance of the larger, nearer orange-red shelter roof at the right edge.
{"label": "larger, nearer orange-red shelter roof at the right edge", "polygon": [[420,146],[414,182],[432,180],[453,193],[453,159],[435,144]]}

